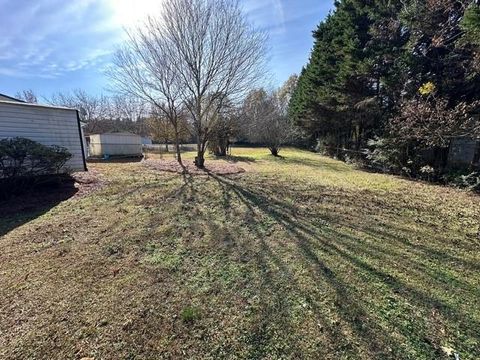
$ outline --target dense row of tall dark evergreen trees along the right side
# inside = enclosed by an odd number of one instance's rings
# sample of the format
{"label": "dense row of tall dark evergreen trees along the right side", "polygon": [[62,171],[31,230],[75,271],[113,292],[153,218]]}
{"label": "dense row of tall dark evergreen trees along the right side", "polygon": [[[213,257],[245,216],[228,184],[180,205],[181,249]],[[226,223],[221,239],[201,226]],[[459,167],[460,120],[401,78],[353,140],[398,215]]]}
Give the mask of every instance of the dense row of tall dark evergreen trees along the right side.
{"label": "dense row of tall dark evergreen trees along the right side", "polygon": [[312,146],[440,175],[453,139],[480,136],[477,1],[336,1],[313,37],[288,110]]}

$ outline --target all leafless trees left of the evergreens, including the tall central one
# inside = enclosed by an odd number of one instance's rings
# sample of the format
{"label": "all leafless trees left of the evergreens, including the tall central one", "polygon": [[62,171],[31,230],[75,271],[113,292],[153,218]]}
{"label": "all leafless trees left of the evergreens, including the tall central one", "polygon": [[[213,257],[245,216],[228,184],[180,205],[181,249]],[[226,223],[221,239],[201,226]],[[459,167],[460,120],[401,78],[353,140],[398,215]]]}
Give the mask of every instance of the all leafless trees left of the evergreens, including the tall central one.
{"label": "all leafless trees left of the evergreens, including the tall central one", "polygon": [[[79,109],[87,134],[123,130],[173,140],[180,163],[186,139],[197,143],[198,167],[206,151],[224,156],[235,140],[278,156],[297,136],[287,114],[297,78],[263,87],[267,40],[237,1],[168,0],[160,15],[127,30],[107,72],[115,95],[75,90],[45,100]],[[36,101],[29,91],[18,96]]]}

